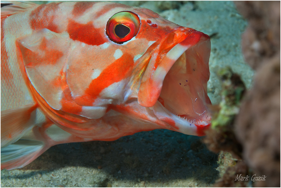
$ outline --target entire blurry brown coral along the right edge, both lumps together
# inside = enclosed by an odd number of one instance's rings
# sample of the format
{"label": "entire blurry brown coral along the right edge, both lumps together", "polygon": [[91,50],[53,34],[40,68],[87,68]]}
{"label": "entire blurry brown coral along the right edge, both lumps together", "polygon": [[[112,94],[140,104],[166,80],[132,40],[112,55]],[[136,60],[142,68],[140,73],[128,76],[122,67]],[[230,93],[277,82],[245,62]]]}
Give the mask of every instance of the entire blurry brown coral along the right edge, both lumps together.
{"label": "entire blurry brown coral along the right edge, both lumps together", "polygon": [[236,2],[249,21],[243,35],[245,60],[257,69],[236,118],[236,137],[257,187],[280,187],[280,1]]}

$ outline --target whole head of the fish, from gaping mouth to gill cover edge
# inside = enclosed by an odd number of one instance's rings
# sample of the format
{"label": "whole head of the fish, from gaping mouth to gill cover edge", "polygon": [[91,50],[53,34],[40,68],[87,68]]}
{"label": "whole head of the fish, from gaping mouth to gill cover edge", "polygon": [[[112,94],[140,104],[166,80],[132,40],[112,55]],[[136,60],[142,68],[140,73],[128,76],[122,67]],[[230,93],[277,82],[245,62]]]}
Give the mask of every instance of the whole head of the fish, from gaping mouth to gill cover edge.
{"label": "whole head of the fish, from gaping mouth to gill cover edge", "polygon": [[149,9],[109,2],[54,3],[34,14],[67,6],[71,13],[54,16],[52,27],[34,24],[16,41],[28,85],[49,119],[89,130],[129,118],[137,122],[130,133],[166,128],[204,135],[211,119],[208,35]]}

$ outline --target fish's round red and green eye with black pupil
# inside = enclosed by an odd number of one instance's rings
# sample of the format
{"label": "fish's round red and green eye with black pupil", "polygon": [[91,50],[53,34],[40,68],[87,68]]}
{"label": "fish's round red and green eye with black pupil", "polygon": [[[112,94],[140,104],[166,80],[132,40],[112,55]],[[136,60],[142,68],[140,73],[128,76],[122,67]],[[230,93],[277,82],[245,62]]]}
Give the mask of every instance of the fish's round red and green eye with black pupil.
{"label": "fish's round red and green eye with black pupil", "polygon": [[115,43],[131,40],[140,29],[140,19],[132,12],[124,11],[113,15],[107,22],[106,34]]}

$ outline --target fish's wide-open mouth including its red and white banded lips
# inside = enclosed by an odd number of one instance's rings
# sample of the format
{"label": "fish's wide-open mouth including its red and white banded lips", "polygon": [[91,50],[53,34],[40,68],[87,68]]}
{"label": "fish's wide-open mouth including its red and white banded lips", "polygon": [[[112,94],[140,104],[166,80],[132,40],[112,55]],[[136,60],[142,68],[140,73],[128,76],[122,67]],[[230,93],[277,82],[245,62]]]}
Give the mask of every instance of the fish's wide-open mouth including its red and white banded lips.
{"label": "fish's wide-open mouth including its red and white banded lips", "polygon": [[198,127],[208,127],[211,119],[206,107],[211,104],[207,95],[209,57],[210,38],[193,32],[164,56],[143,85],[146,90],[140,86],[138,97],[148,96],[139,100],[140,105],[153,109],[158,119],[178,132],[203,135]]}

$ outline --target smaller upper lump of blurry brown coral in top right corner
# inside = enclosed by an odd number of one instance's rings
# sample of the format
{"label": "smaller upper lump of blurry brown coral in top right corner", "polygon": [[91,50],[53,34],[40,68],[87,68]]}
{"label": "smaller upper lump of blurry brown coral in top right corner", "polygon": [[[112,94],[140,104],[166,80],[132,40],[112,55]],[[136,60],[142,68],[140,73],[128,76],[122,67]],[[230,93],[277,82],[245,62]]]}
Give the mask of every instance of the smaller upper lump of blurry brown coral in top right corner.
{"label": "smaller upper lump of blurry brown coral in top right corner", "polygon": [[242,36],[245,60],[257,69],[265,58],[280,52],[280,1],[236,1],[235,4],[249,21]]}

